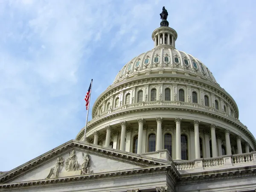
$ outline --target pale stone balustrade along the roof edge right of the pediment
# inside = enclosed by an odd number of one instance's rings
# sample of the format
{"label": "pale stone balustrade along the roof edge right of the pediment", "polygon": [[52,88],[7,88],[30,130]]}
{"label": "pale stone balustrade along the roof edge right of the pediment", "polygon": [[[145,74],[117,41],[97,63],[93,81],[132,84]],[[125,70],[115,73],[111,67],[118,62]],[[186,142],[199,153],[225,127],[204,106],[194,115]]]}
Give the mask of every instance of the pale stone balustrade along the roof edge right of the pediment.
{"label": "pale stone balustrade along the roof edge right of the pediment", "polygon": [[234,155],[223,155],[221,157],[211,157],[211,158],[204,158],[204,159],[195,159],[183,162],[176,162],[175,167],[178,171],[185,171],[185,170],[193,170],[193,169],[209,169],[214,168],[216,166],[226,167],[232,166],[250,166],[256,165],[256,151],[244,154],[234,154]]}

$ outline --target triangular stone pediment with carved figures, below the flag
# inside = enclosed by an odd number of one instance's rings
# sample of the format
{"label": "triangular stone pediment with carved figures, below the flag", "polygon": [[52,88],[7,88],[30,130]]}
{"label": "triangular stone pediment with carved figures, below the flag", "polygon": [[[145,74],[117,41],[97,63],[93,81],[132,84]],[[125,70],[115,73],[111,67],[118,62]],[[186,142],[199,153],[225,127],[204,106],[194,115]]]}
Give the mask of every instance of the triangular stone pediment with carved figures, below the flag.
{"label": "triangular stone pediment with carved figures, below the flag", "polygon": [[159,166],[164,160],[71,140],[59,147],[0,175],[0,183],[19,183],[62,177]]}

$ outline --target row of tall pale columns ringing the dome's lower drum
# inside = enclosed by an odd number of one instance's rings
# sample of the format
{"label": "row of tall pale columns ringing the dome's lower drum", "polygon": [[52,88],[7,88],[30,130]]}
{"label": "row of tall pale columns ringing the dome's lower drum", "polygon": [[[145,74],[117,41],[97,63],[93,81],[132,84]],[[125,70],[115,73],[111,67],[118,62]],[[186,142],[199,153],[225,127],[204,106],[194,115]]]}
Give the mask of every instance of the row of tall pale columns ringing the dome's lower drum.
{"label": "row of tall pale columns ringing the dome's lower drum", "polygon": [[[176,124],[176,160],[181,160],[181,132],[180,132],[180,124],[181,124],[181,118],[175,118],[175,124]],[[143,153],[143,130],[145,125],[145,119],[140,118],[137,119],[138,122],[138,143],[137,143],[137,154]],[[157,134],[156,134],[156,151],[163,149],[162,148],[162,123],[163,123],[163,117],[156,117],[157,122]],[[199,124],[200,121],[195,119],[193,120],[193,131],[194,131],[194,141],[195,141],[195,159],[200,158],[200,137],[199,137]],[[121,138],[120,138],[120,147],[119,149],[122,151],[125,151],[125,135],[127,131],[127,122],[122,121],[120,122],[121,125]],[[217,145],[216,141],[216,125],[210,124],[210,130],[211,130],[211,140],[212,140],[212,157],[218,157],[218,151],[217,146],[221,146],[219,143]],[[106,129],[106,138],[105,138],[105,147],[109,147],[110,140],[111,140],[111,126],[108,125],[105,127]],[[209,137],[208,137],[209,138]],[[93,144],[97,145],[99,139],[99,131],[94,132],[94,141]],[[191,138],[192,139],[192,138]],[[226,140],[226,154],[232,154],[231,152],[231,144],[230,144],[230,131],[225,130],[225,140]],[[209,141],[209,139],[208,139]],[[219,140],[218,140],[219,142]],[[236,144],[237,144],[237,152],[238,154],[242,153],[242,146],[241,146],[241,136],[237,135],[236,137]],[[245,152],[249,153],[249,144],[245,144]]]}

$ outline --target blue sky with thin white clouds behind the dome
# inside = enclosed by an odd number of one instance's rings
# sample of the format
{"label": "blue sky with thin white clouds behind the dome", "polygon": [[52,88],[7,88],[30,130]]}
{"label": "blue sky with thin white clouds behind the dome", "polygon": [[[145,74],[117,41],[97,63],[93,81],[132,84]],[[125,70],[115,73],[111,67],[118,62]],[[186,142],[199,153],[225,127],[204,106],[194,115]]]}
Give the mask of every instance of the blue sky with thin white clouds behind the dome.
{"label": "blue sky with thin white clouds behind the dome", "polygon": [[256,136],[255,0],[0,0],[0,171],[76,138],[90,80],[92,107],[154,47],[163,6],[176,48],[211,70]]}

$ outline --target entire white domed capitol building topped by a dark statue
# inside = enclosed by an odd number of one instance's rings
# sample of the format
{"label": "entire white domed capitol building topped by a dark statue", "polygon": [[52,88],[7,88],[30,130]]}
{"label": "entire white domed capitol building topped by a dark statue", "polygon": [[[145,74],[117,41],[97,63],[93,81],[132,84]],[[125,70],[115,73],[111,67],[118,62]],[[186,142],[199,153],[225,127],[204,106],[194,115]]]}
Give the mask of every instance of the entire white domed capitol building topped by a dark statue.
{"label": "entire white domed capitol building topped by a dark statue", "polygon": [[163,7],[153,49],[126,63],[76,140],[0,172],[12,192],[256,192],[256,140]]}

